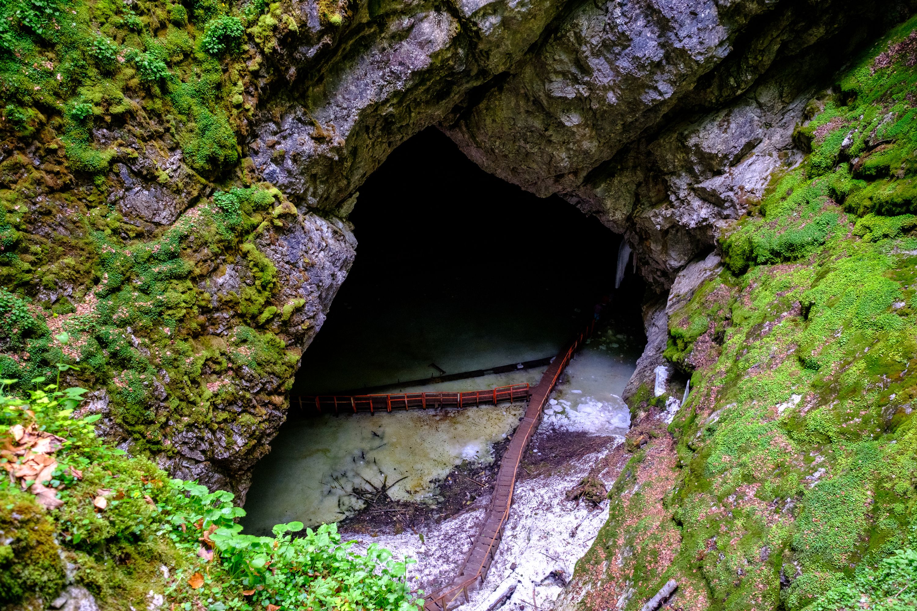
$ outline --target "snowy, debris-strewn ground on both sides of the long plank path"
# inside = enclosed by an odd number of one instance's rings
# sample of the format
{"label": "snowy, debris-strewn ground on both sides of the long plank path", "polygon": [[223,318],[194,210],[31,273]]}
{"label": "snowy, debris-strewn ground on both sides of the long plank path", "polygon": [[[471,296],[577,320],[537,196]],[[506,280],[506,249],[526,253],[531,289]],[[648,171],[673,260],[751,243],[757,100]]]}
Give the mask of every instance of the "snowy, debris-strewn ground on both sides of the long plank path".
{"label": "snowy, debris-strewn ground on both sides of the long plank path", "polygon": [[[607,519],[607,500],[594,505],[568,500],[568,493],[588,476],[607,489],[623,465],[630,418],[618,395],[635,363],[624,341],[602,330],[552,393],[525,453],[496,559],[482,588],[472,594],[471,609],[487,608],[514,584],[506,608],[549,606]],[[358,540],[360,550],[377,543],[416,560],[409,569],[414,587],[433,592],[451,582],[470,549],[505,445],[493,444],[490,464],[458,464],[438,484],[436,506],[388,501],[342,521],[339,529],[345,538]]]}

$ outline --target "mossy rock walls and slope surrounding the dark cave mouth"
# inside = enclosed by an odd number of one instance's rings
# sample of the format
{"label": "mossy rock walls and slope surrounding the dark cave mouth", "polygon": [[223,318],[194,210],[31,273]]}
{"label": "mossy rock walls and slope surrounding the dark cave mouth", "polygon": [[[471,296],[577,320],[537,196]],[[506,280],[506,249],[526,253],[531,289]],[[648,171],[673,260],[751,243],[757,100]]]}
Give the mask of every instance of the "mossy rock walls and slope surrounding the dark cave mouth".
{"label": "mossy rock walls and slope surrounding the dark cave mouth", "polygon": [[244,501],[360,184],[439,125],[623,234],[655,291],[634,457],[565,604],[636,608],[671,576],[686,607],[841,600],[911,544],[913,23],[819,92],[915,9],[11,0],[3,377],[76,367],[110,441]]}

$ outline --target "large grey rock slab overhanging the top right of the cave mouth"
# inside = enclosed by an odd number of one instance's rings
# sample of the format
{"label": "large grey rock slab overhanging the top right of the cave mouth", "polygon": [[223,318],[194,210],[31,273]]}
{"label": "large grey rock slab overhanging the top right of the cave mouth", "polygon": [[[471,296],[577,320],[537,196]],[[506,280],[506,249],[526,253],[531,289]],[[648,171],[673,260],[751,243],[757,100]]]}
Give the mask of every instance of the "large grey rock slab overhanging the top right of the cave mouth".
{"label": "large grey rock slab overhanging the top right of the cave mouth", "polygon": [[482,168],[539,195],[569,191],[729,56],[766,2],[582,3],[451,134]]}

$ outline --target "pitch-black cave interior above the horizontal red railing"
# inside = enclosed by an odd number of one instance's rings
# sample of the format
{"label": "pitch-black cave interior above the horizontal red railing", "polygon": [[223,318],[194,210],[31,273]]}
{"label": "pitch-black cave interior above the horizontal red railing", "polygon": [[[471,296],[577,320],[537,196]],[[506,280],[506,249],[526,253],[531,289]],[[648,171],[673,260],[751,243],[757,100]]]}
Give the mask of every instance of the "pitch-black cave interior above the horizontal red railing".
{"label": "pitch-black cave interior above the horizontal red railing", "polygon": [[487,174],[433,127],[370,176],[350,220],[357,258],[293,395],[553,356],[613,290],[619,236]]}

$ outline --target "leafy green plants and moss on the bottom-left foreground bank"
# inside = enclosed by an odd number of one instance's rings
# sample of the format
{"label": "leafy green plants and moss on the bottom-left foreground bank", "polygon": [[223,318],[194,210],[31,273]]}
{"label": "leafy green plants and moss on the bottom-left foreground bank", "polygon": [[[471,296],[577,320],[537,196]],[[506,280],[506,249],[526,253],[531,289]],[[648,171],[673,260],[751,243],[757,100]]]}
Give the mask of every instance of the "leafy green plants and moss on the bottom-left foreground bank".
{"label": "leafy green plants and moss on the bottom-left foreground bank", "polygon": [[[350,551],[335,525],[303,533],[293,522],[275,527],[274,537],[241,534],[235,519],[245,511],[233,507],[232,494],[170,480],[97,438],[97,416],[73,418],[84,392],[50,386],[22,400],[0,387],[0,444],[15,446],[17,424],[66,440],[52,479],[42,483],[58,489],[61,507],[45,509],[0,478],[0,606],[44,608],[71,580],[105,609],[147,608],[150,591],[166,596],[163,609],[183,611],[408,611],[423,604],[406,584],[407,563],[375,545],[365,556]],[[5,454],[0,466],[17,460]],[[101,492],[105,507],[94,504]]]}

